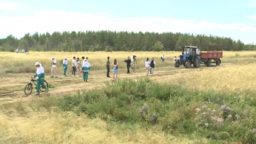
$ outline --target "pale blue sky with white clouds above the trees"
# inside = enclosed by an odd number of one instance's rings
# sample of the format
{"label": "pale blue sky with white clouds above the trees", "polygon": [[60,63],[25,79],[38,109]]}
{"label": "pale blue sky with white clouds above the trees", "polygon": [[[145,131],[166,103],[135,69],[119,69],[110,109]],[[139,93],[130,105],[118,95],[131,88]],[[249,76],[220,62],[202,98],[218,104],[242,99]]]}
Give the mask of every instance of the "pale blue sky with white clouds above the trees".
{"label": "pale blue sky with white clouds above the trees", "polygon": [[256,0],[0,0],[0,38],[101,30],[182,32],[256,43]]}

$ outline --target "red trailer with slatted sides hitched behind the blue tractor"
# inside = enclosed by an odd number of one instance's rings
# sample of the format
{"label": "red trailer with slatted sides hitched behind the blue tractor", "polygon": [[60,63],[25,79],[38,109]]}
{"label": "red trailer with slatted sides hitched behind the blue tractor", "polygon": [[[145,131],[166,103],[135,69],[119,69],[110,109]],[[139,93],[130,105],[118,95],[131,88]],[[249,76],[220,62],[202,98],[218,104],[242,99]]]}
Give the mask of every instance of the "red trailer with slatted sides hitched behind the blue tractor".
{"label": "red trailer with slatted sides hitched behind the blue tractor", "polygon": [[201,62],[204,62],[205,65],[211,66],[211,63],[216,63],[219,66],[221,64],[220,58],[223,58],[222,46],[200,46],[199,48],[207,50],[201,51]]}

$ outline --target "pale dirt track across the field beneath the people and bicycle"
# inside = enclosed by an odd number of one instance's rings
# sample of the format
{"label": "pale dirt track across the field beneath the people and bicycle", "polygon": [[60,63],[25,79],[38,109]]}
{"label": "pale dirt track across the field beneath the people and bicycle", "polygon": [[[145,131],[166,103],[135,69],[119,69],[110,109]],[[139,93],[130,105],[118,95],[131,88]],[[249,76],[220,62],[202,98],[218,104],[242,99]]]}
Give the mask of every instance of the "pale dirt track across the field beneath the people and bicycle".
{"label": "pale dirt track across the field beneath the people and bicycle", "polygon": [[[229,64],[224,64],[222,66],[228,66]],[[213,68],[216,66],[201,66],[201,68],[189,68],[186,69],[183,66],[179,68],[171,67],[160,67],[154,72],[154,76],[148,75],[149,78],[156,81],[166,81],[168,78],[172,77],[183,77],[187,75],[188,72],[201,71],[205,68]],[[112,72],[112,71],[111,71]],[[110,72],[110,73],[111,73]],[[141,78],[146,77],[143,69],[137,70],[137,72],[131,72],[130,74],[125,73],[125,70],[119,70],[119,79],[122,78]],[[182,74],[181,74],[182,73]],[[30,77],[34,73],[15,73],[6,74],[0,78],[0,104],[12,103],[16,101],[28,101],[31,99],[39,98],[35,95],[36,89],[33,87],[32,95],[25,95],[24,88],[26,84],[30,82]],[[89,80],[87,83],[83,81],[82,75],[80,77],[72,77],[67,75],[63,77],[61,72],[59,72],[58,78],[49,78],[49,73],[45,74],[45,80],[49,84],[49,92],[47,94],[41,93],[43,96],[62,96],[67,94],[75,94],[79,90],[87,89],[100,89],[104,86],[104,82],[113,81],[112,73],[110,75],[112,78],[106,77],[106,72],[104,71],[90,71]]]}

